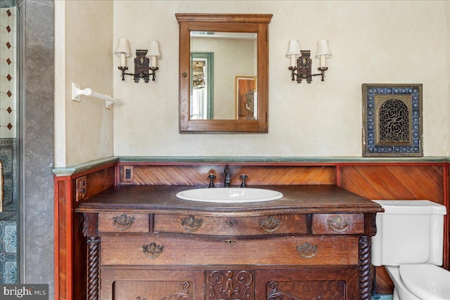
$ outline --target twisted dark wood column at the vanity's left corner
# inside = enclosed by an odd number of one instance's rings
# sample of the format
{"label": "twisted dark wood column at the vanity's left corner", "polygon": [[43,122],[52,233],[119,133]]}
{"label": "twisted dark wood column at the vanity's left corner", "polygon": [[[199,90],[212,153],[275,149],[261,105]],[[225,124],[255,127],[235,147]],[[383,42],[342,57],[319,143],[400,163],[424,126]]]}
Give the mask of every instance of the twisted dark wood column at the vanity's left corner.
{"label": "twisted dark wood column at the vanity's left corner", "polygon": [[98,300],[100,237],[87,237],[87,299]]}

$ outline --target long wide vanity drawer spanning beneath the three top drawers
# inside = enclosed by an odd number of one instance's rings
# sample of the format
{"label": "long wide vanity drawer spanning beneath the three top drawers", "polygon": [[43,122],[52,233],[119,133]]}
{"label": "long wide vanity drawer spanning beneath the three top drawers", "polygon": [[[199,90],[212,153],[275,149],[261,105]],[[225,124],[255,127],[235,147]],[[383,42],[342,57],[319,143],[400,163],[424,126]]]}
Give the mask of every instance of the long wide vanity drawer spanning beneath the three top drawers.
{"label": "long wide vanity drawer spanning beneath the three top drawers", "polygon": [[102,237],[101,264],[140,266],[357,265],[358,237],[274,237],[202,240],[174,237]]}

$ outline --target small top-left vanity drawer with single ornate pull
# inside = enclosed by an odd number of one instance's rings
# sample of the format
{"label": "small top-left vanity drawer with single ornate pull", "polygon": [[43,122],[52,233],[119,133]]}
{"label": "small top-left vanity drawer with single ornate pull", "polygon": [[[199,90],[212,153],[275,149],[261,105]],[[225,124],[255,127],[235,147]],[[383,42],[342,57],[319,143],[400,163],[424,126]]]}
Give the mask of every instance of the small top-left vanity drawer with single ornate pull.
{"label": "small top-left vanity drawer with single ornate pull", "polygon": [[98,214],[99,233],[148,233],[148,214]]}

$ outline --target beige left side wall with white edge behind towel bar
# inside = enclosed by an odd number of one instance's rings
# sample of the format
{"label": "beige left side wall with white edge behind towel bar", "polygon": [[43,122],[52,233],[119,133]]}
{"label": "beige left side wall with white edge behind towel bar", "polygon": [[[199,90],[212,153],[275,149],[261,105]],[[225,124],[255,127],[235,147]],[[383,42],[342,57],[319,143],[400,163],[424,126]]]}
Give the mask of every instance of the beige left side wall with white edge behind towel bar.
{"label": "beige left side wall with white edge behind towel bar", "polygon": [[55,44],[55,167],[113,156],[113,110],[71,86],[113,96],[113,2],[56,0]]}

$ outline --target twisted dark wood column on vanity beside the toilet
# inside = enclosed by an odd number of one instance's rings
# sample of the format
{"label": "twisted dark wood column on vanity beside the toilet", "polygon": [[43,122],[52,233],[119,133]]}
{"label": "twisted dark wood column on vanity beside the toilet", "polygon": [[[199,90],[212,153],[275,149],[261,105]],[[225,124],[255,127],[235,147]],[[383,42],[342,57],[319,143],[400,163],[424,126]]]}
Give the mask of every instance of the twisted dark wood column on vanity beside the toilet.
{"label": "twisted dark wood column on vanity beside the toilet", "polygon": [[372,239],[359,237],[359,299],[370,300],[372,295]]}

